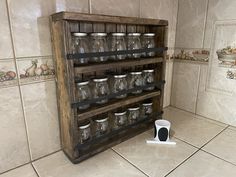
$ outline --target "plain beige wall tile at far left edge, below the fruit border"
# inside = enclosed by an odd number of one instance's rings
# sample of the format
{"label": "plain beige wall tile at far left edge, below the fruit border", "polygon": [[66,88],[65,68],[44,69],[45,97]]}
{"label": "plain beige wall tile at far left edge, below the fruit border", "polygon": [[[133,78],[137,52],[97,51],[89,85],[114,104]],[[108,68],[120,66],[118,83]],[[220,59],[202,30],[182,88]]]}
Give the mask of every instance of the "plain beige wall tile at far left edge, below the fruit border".
{"label": "plain beige wall tile at far left edge, below the fruit border", "polygon": [[18,87],[0,89],[0,173],[29,162]]}

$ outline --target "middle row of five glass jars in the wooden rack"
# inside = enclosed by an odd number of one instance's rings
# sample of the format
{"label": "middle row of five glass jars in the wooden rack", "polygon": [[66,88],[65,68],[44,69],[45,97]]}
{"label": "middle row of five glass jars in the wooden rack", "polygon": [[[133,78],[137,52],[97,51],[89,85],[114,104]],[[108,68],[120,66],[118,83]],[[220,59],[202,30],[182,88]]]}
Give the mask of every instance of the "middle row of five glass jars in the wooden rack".
{"label": "middle row of five glass jars in the wooden rack", "polygon": [[[147,86],[154,84],[154,69],[146,69],[143,71],[133,71],[128,74],[113,74],[109,77],[97,77],[92,81],[77,82],[77,99],[79,102],[88,101],[93,98],[102,98],[110,95],[111,93],[118,93],[115,96],[117,99],[127,97],[127,93],[119,94],[120,92],[127,91],[128,89],[135,89],[137,87]],[[145,88],[146,91],[151,91],[155,87],[150,86]],[[142,89],[132,91],[132,94],[142,93]],[[108,98],[97,101],[97,104],[104,104],[108,102]],[[90,107],[90,104],[83,104],[79,106],[80,110]]]}

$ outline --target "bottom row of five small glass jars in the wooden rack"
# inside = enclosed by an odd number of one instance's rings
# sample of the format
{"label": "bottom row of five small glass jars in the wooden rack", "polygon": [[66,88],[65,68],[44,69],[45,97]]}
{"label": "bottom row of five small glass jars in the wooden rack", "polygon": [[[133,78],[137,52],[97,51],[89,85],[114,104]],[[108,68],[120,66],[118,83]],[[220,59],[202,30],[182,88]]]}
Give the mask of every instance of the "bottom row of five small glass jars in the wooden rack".
{"label": "bottom row of five small glass jars in the wooden rack", "polygon": [[79,141],[83,144],[92,137],[100,137],[112,130],[118,130],[141,119],[147,119],[152,114],[153,102],[148,100],[141,104],[131,105],[126,109],[118,109],[95,116],[91,120],[79,123]]}

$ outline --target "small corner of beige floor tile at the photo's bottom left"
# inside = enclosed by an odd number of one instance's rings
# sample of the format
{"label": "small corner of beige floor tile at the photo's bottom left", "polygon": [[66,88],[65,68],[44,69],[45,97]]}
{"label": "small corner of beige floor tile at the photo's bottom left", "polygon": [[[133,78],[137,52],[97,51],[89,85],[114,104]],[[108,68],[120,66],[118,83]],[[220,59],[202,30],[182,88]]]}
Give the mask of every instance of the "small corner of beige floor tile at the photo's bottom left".
{"label": "small corner of beige floor tile at the photo's bottom left", "polygon": [[37,177],[33,167],[28,164],[0,175],[0,177]]}

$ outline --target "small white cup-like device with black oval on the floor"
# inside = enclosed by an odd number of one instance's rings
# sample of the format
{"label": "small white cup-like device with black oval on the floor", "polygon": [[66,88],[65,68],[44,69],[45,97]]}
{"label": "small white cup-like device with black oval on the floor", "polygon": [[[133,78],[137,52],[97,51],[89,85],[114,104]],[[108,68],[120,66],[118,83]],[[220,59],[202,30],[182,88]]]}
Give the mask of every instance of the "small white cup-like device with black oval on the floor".
{"label": "small white cup-like device with black oval on the floor", "polygon": [[176,142],[170,141],[170,125],[171,123],[168,120],[156,120],[154,125],[154,139],[146,140],[146,143],[175,145]]}

